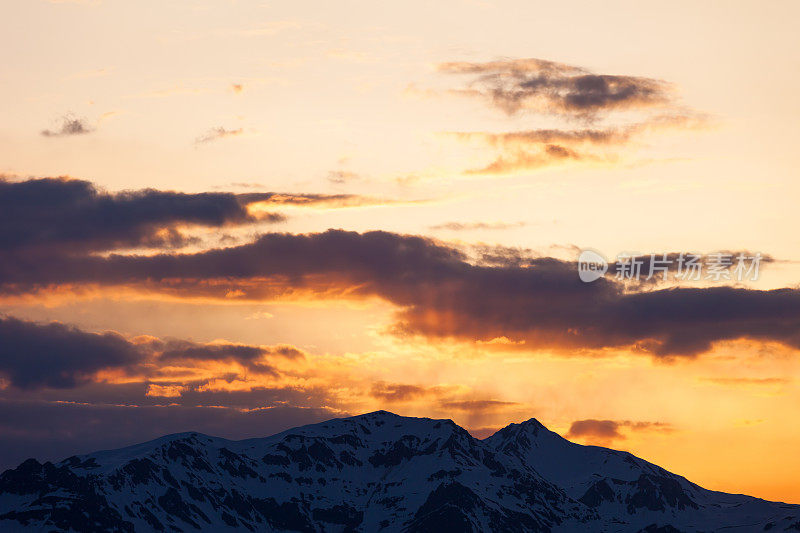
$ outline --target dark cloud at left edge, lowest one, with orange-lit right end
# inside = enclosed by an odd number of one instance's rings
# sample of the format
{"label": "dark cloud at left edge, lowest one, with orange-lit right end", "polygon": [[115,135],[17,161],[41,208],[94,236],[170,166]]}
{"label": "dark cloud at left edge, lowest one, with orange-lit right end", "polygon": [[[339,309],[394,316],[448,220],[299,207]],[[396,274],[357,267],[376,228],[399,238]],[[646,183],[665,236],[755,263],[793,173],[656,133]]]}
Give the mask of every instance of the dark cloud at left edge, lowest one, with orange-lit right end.
{"label": "dark cloud at left edge, lowest one, with orange-lit right end", "polygon": [[[276,360],[305,357],[290,345],[126,339],[114,332],[90,333],[13,317],[0,317],[0,339],[0,376],[19,389],[76,388],[97,381],[98,372],[110,370],[138,379],[161,378],[167,375],[165,368],[180,364],[195,368],[203,362],[240,365],[251,373],[278,376]],[[157,384],[152,390],[164,392],[165,386]]]}

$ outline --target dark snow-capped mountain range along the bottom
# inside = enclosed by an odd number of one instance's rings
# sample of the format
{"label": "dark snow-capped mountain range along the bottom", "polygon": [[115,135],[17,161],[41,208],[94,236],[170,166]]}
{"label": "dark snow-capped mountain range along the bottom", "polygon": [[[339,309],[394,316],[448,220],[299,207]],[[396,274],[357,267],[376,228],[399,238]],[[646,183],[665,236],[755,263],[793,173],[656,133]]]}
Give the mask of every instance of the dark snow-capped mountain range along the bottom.
{"label": "dark snow-capped mountain range along the bottom", "polygon": [[0,531],[800,531],[531,419],[477,440],[385,411],[229,441],[168,435],[0,476]]}

